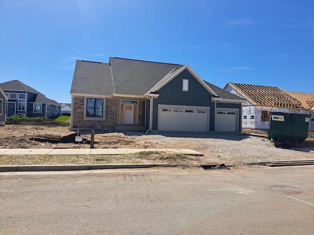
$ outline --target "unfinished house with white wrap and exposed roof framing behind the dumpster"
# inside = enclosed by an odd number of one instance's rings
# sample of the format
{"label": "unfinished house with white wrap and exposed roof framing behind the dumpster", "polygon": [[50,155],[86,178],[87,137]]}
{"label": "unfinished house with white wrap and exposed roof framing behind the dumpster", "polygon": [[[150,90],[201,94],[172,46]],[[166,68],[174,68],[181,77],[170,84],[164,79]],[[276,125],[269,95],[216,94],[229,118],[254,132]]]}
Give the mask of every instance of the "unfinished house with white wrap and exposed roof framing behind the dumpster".
{"label": "unfinished house with white wrap and exposed roof framing behind the dumpster", "polygon": [[270,112],[310,113],[296,97],[279,87],[229,82],[224,90],[247,100],[242,107],[243,128],[268,129]]}

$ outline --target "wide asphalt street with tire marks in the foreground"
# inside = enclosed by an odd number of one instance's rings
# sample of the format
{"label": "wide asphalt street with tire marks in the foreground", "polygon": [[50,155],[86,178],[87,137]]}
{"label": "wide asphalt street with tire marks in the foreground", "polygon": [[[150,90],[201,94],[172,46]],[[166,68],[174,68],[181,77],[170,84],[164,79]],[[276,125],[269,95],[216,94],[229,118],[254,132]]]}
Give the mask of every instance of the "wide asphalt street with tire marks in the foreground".
{"label": "wide asphalt street with tire marks in the foreground", "polygon": [[0,174],[1,235],[314,231],[314,166],[26,173]]}

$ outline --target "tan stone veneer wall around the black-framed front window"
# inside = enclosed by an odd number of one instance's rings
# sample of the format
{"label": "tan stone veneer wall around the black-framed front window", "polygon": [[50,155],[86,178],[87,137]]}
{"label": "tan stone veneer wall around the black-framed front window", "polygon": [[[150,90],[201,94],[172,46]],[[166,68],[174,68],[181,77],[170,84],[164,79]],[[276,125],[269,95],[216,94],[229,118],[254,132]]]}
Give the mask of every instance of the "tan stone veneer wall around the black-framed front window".
{"label": "tan stone veneer wall around the black-framed front window", "polygon": [[84,96],[73,96],[72,128],[111,128],[117,124],[117,98],[106,98],[105,121],[84,120]]}

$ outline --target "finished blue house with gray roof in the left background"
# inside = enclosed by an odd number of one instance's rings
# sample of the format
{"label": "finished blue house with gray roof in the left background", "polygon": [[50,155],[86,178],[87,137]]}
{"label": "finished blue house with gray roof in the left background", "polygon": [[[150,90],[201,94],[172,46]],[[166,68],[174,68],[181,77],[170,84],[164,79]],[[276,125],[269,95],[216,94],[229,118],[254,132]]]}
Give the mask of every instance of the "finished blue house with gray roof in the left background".
{"label": "finished blue house with gray roof in the left background", "polygon": [[15,114],[30,118],[60,115],[60,104],[19,80],[0,83],[0,88],[9,98],[6,102],[7,117]]}

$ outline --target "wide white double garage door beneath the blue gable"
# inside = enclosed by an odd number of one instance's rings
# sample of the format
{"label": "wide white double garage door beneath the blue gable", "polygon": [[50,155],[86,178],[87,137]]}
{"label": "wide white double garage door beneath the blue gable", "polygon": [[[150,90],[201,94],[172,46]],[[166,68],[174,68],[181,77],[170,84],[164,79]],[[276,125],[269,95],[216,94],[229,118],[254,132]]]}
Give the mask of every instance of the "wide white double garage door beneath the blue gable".
{"label": "wide white double garage door beneath the blue gable", "polygon": [[208,131],[208,110],[159,108],[159,131]]}

